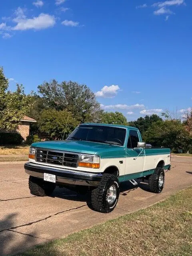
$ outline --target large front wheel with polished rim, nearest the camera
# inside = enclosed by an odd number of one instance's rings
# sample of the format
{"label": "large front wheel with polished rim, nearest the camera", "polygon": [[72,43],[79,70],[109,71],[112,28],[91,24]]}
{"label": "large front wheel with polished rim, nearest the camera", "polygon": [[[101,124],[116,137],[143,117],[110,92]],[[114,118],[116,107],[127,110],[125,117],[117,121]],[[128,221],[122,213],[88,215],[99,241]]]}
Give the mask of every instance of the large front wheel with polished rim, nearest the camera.
{"label": "large front wheel with polished rim, nearest the camera", "polygon": [[97,212],[112,212],[118,202],[119,193],[119,182],[116,176],[103,174],[99,186],[91,192],[92,208]]}

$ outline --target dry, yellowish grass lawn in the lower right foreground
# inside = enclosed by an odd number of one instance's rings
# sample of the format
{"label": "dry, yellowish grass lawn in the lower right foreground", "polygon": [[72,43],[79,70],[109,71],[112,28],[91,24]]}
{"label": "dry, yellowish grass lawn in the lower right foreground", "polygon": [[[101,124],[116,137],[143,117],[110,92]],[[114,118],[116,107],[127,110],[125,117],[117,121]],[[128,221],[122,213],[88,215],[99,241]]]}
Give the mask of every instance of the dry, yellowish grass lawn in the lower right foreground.
{"label": "dry, yellowish grass lawn in the lower right foreground", "polygon": [[191,256],[192,188],[17,256]]}

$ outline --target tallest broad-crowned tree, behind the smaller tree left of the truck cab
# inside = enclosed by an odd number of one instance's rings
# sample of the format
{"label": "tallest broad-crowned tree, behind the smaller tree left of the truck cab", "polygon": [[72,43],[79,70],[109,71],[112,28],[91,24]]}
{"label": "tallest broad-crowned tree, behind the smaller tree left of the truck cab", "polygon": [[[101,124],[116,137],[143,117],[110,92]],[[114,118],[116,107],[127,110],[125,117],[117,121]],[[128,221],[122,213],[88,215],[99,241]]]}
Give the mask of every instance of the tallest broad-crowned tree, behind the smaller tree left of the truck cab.
{"label": "tallest broad-crowned tree, behind the smaller tree left of the truck cab", "polygon": [[56,80],[38,86],[48,108],[68,110],[79,122],[97,122],[102,110],[95,94],[85,85]]}

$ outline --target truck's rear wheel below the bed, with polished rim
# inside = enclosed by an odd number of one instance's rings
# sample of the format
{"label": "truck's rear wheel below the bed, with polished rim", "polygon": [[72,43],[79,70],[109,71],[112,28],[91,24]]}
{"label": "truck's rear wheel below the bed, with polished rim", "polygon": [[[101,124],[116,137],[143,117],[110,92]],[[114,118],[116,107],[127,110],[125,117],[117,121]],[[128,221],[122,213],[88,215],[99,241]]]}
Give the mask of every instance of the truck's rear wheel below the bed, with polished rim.
{"label": "truck's rear wheel below the bed, with polished rim", "polygon": [[162,192],[165,184],[165,173],[163,168],[157,167],[149,177],[149,189],[153,193]]}

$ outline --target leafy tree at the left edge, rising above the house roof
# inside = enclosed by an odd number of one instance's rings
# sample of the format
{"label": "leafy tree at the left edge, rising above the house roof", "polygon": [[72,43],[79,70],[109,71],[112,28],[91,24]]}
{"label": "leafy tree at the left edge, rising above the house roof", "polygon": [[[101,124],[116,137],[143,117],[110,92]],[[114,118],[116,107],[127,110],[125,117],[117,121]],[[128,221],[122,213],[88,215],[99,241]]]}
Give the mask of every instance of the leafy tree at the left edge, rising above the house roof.
{"label": "leafy tree at the left edge, rising above the house roof", "polygon": [[0,129],[14,130],[24,114],[30,109],[30,96],[17,84],[15,92],[8,90],[8,79],[0,68]]}

